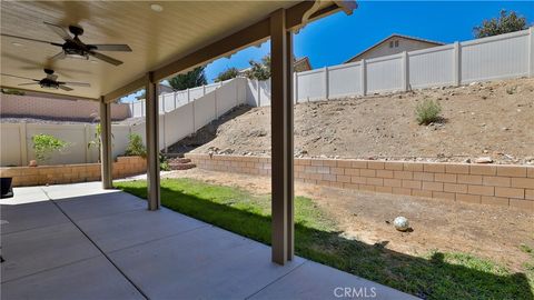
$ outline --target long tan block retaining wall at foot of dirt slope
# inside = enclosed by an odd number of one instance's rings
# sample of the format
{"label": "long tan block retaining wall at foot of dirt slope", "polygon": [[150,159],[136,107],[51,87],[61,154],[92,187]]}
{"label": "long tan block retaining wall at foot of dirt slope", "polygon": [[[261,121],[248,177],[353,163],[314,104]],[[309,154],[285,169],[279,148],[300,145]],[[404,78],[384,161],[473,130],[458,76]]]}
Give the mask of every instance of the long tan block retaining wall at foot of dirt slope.
{"label": "long tan block retaining wall at foot of dirt slope", "polygon": [[[270,174],[270,158],[186,157],[207,170]],[[526,166],[295,159],[295,180],[534,211],[534,167]]]}

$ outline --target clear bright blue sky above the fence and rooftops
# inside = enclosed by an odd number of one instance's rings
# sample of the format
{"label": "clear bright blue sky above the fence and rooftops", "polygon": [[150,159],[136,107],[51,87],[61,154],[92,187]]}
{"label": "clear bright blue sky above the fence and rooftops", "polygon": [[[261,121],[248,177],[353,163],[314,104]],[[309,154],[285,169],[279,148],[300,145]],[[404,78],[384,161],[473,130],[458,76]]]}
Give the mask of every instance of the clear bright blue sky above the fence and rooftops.
{"label": "clear bright blue sky above the fence and rooftops", "polygon": [[[309,57],[312,67],[343,63],[392,33],[445,43],[473,39],[473,27],[495,18],[501,9],[516,11],[534,22],[534,1],[358,1],[352,16],[336,13],[306,26],[294,38],[296,57]],[[269,42],[221,58],[206,68],[208,82],[229,67],[269,53]]]}

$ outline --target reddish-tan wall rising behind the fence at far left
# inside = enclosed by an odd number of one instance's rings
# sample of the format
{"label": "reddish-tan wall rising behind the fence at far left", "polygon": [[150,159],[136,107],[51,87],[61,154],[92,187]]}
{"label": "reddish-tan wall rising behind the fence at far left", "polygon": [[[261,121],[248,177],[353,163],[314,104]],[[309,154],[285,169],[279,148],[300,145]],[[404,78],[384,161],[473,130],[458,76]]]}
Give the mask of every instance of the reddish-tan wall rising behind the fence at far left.
{"label": "reddish-tan wall rising behind the fence at far left", "polygon": [[[1,116],[47,117],[92,121],[99,117],[97,101],[42,98],[36,96],[0,94]],[[111,119],[123,120],[130,117],[128,104],[113,103]]]}

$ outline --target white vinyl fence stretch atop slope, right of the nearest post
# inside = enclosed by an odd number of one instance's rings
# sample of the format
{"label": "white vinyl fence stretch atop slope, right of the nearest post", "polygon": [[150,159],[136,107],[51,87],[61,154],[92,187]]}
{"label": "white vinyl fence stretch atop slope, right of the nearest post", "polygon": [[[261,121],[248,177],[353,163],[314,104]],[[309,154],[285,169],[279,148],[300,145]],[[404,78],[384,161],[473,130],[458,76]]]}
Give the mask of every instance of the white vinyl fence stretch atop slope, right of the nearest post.
{"label": "white vinyl fence stretch atop slope, right of the nearest post", "polygon": [[299,72],[295,98],[317,101],[533,74],[534,29],[530,28]]}

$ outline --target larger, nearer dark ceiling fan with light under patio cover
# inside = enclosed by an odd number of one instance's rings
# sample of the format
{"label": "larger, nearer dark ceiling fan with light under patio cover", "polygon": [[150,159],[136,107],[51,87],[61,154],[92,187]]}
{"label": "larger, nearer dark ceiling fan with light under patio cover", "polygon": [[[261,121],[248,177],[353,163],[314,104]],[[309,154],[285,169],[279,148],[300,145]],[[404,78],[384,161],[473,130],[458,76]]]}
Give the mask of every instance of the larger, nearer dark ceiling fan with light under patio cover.
{"label": "larger, nearer dark ceiling fan with light under patio cover", "polygon": [[83,28],[79,26],[69,26],[70,33],[62,27],[52,24],[49,22],[44,22],[48,28],[50,28],[53,32],[56,32],[61,39],[65,40],[65,43],[57,43],[51,41],[43,41],[32,38],[24,38],[18,37],[12,34],[4,34],[1,36],[16,38],[21,40],[29,40],[36,42],[43,42],[49,43],[56,47],[61,47],[62,50],[58,54],[53,56],[51,59],[65,59],[65,58],[79,58],[88,60],[89,57],[93,57],[96,59],[102,60],[105,62],[111,63],[113,66],[119,66],[122,61],[113,59],[111,57],[105,56],[97,51],[121,51],[121,52],[131,52],[131,48],[128,44],[88,44],[83,43],[80,40],[80,36],[83,34]]}

